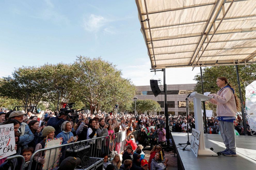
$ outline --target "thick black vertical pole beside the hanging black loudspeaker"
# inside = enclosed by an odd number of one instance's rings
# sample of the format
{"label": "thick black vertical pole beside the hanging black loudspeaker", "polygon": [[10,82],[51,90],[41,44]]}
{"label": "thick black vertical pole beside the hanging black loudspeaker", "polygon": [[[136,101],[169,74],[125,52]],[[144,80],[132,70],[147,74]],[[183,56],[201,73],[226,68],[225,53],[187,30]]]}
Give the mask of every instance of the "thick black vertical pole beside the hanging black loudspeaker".
{"label": "thick black vertical pole beside the hanging black loudspeaker", "polygon": [[170,131],[169,131],[169,116],[168,116],[168,107],[167,107],[167,86],[165,81],[165,68],[163,70],[164,70],[164,115],[165,115],[165,125],[166,125],[167,147],[169,147]]}

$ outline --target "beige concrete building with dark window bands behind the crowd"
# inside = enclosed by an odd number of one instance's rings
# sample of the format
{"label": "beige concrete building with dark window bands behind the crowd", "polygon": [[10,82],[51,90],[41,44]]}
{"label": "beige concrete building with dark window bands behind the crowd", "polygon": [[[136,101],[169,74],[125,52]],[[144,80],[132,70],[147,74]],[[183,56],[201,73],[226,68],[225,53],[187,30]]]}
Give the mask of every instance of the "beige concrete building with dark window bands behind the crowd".
{"label": "beige concrete building with dark window bands behind the crowd", "polygon": [[[186,98],[194,91],[196,84],[174,84],[167,85],[167,107],[168,113],[172,115],[186,115]],[[151,99],[161,105],[160,113],[164,113],[164,89],[159,86],[161,94],[154,96],[150,86],[136,86],[136,97],[140,100]],[[157,111],[157,114],[159,113]],[[189,110],[188,110],[189,112]]]}

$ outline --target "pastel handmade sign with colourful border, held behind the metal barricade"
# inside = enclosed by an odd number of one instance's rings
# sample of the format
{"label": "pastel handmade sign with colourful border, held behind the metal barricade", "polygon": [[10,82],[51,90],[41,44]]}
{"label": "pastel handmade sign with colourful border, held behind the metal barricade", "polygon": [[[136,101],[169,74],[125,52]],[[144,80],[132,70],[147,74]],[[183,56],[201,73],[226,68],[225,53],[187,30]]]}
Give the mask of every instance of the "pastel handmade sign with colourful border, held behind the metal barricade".
{"label": "pastel handmade sign with colourful border, held behind the metal barricade", "polygon": [[[54,147],[54,146],[58,146],[58,145],[60,145],[60,147],[57,149],[50,149],[50,150],[45,151],[45,155],[44,155],[45,163],[43,165],[43,170],[45,170],[45,169],[51,170],[51,169],[58,167],[59,158],[60,158],[60,154],[61,154],[62,140],[63,140],[62,137],[46,139],[45,148],[50,148],[50,147]],[[49,167],[47,167],[48,165],[49,165]]]}

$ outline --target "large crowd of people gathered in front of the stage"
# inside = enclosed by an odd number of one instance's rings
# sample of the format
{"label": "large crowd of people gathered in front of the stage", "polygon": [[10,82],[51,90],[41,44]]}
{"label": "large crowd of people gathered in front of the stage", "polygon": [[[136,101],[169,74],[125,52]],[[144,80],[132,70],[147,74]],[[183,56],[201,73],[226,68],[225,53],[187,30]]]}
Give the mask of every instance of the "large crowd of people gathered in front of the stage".
{"label": "large crowd of people gathered in front of the stage", "polygon": [[[170,130],[172,132],[187,132],[191,128],[195,128],[195,119],[192,115],[172,116],[168,117]],[[62,144],[72,143],[94,139],[101,136],[112,136],[115,133],[126,131],[127,142],[126,151],[120,156],[116,154],[110,161],[107,153],[98,152],[98,155],[104,158],[104,169],[165,169],[168,159],[165,158],[162,146],[166,146],[166,117],[164,115],[145,115],[135,116],[133,114],[117,114],[98,113],[90,114],[79,112],[77,118],[71,118],[66,114],[61,114],[46,110],[39,111],[36,114],[31,111],[1,111],[0,125],[14,124],[15,143],[17,155],[22,155],[25,162],[29,162],[31,155],[45,147],[45,141],[54,137],[62,137]],[[243,133],[243,127],[239,124],[239,119],[236,120],[234,126]],[[132,132],[138,131],[136,136]],[[219,121],[217,117],[207,118],[207,132],[218,134]],[[98,150],[106,145],[106,140],[98,140],[90,142],[91,147],[97,147]],[[96,146],[96,147],[95,147]],[[142,151],[144,147],[152,148],[149,160],[145,160],[145,153]],[[62,148],[63,150],[64,148]],[[111,150],[110,150],[111,152]],[[94,152],[95,153],[95,152]],[[4,162],[6,158],[0,159],[0,166],[10,166],[8,162]],[[67,157],[66,159],[72,159]],[[60,157],[60,167],[66,161],[64,155]],[[122,161],[121,161],[122,160]],[[45,158],[42,152],[38,152],[33,159],[32,168],[42,169],[45,163]],[[81,161],[76,158],[74,165]],[[71,161],[72,162],[72,161]],[[10,161],[9,161],[10,163]],[[60,168],[61,169],[61,168]]]}

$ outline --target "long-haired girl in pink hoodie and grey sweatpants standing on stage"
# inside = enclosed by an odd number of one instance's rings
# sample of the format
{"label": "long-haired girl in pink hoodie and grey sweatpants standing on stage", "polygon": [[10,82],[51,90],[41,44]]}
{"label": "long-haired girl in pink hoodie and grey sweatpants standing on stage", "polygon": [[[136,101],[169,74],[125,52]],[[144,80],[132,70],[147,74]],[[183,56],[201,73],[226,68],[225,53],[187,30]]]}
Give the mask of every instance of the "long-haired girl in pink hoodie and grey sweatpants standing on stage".
{"label": "long-haired girl in pink hoodie and grey sweatpants standing on stage", "polygon": [[216,114],[219,120],[220,134],[226,145],[226,149],[219,153],[226,156],[237,156],[234,120],[236,119],[236,111],[240,107],[239,99],[226,77],[217,78],[216,84],[220,90],[217,94],[209,94],[208,96],[213,97],[209,101],[217,105]]}

